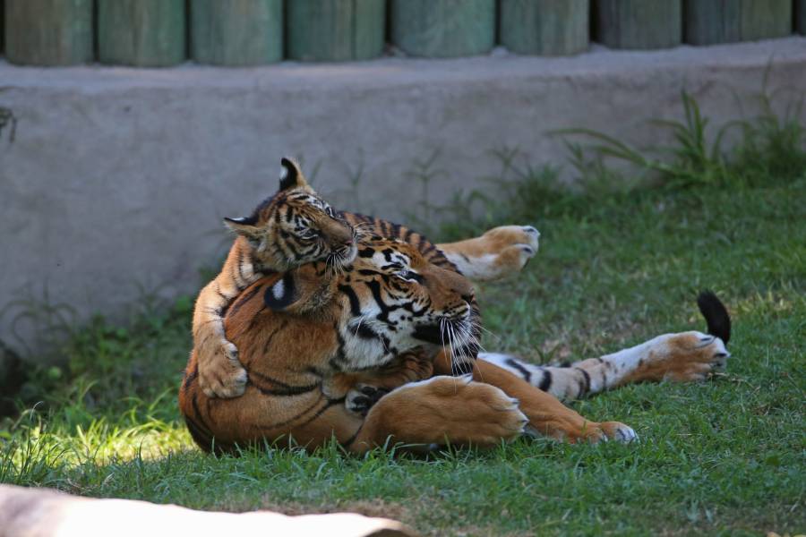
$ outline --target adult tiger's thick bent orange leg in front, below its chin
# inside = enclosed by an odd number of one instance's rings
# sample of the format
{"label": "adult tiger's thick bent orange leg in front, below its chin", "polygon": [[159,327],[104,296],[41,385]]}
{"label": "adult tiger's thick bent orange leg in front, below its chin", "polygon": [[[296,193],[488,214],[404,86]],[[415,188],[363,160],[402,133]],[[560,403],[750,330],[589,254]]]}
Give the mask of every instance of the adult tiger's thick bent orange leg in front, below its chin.
{"label": "adult tiger's thick bent orange leg in front, below its chin", "polygon": [[412,450],[447,444],[493,447],[519,437],[526,423],[518,402],[501,389],[469,376],[440,376],[383,396],[347,448],[364,453],[397,443]]}

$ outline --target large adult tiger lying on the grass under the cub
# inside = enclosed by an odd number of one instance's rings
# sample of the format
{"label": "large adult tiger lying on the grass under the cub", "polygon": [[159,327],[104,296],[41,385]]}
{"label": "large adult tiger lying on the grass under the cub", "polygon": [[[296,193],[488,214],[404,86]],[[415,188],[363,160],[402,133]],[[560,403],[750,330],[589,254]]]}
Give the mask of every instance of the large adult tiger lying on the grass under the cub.
{"label": "large adult tiger lying on the grass under the cub", "polygon": [[[372,235],[357,249],[353,263],[337,272],[315,262],[262,277],[227,309],[226,336],[240,349],[250,379],[243,396],[207,396],[193,351],[179,404],[201,449],[232,453],[288,441],[310,450],[335,439],[362,454],[390,442],[415,451],[446,444],[493,447],[523,434],[626,442],[637,438],[630,426],[588,420],[558,396],[667,377],[694,380],[728,356],[720,337],[691,331],[569,367],[544,367],[533,382],[519,370],[527,364],[506,357],[502,367],[484,354],[467,375],[450,376],[444,338],[451,335],[450,347],[469,343],[472,284],[403,241]],[[700,303],[708,326],[725,336],[724,306],[712,295]],[[426,357],[427,378],[403,382],[366,412],[350,408],[356,376],[383,376],[407,354]]]}

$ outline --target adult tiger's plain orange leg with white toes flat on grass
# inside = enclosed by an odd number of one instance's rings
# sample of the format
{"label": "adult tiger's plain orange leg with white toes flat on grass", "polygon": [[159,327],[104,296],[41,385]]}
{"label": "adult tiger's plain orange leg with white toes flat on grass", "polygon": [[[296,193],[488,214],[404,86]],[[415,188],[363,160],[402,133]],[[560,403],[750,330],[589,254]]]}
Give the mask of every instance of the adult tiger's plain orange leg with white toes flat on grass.
{"label": "adult tiger's plain orange leg with white toes flat on grass", "polygon": [[[450,358],[444,353],[434,362],[434,370],[450,371]],[[473,379],[501,388],[508,396],[519,401],[520,410],[529,420],[528,430],[553,439],[598,441],[618,439],[630,441],[636,438],[635,431],[620,422],[592,422],[579,413],[562,405],[559,399],[537,389],[526,380],[507,371],[493,362],[476,360]]]}

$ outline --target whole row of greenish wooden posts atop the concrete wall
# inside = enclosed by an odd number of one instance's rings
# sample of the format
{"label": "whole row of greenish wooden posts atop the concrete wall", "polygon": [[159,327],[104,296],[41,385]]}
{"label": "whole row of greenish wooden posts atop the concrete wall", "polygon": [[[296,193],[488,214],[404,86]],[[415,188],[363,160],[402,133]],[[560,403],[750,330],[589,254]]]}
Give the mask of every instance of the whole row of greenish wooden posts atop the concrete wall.
{"label": "whole row of greenish wooden posts atop the concrete wall", "polygon": [[[13,64],[165,67],[383,54],[573,55],[806,34],[806,0],[0,0]],[[97,47],[95,46],[97,44]]]}

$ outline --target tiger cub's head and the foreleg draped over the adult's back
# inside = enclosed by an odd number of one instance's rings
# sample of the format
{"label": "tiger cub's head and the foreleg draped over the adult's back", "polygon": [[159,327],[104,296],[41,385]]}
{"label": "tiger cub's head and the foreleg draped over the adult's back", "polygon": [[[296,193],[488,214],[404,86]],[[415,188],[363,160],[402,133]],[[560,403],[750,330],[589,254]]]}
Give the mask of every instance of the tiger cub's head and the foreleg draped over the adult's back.
{"label": "tiger cub's head and the foreleg draped over the adult's back", "polygon": [[312,261],[338,269],[356,257],[356,230],[305,181],[300,167],[280,161],[279,191],[249,217],[224,218],[238,236],[221,272],[201,289],[193,311],[193,346],[205,395],[244,393],[246,371],[224,335],[227,306],[246,287],[274,272]]}

